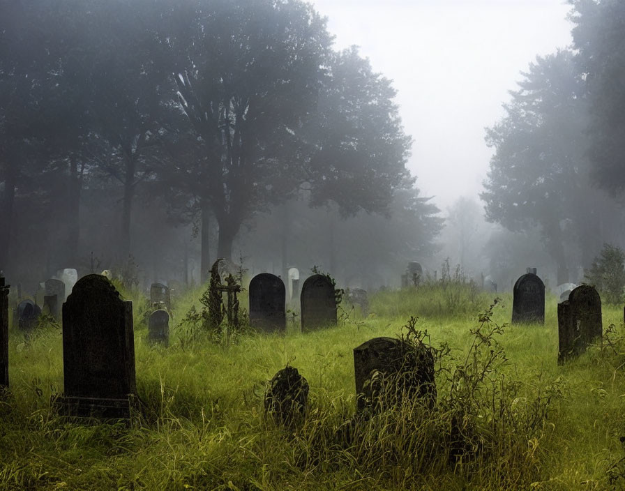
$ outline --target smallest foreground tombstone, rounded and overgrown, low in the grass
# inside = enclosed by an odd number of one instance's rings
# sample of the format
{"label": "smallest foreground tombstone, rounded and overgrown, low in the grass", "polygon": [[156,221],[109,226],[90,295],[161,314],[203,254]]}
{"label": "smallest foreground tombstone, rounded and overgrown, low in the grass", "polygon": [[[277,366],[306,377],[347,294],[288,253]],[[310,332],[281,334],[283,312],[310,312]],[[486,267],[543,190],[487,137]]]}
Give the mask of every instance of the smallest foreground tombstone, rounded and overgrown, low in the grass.
{"label": "smallest foreground tombstone, rounded and overgrown, low in the grass", "polygon": [[297,368],[287,366],[269,381],[264,398],[265,415],[278,425],[292,427],[303,420],[308,406],[308,382]]}

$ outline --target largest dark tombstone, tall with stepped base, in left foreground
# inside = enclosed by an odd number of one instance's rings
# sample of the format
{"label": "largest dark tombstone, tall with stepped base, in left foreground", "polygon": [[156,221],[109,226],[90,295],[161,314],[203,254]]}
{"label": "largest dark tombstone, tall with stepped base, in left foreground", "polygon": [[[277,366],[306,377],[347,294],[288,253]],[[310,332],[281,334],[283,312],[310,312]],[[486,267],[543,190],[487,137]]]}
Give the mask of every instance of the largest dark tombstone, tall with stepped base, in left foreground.
{"label": "largest dark tombstone, tall with stepped base, in left foreground", "polygon": [[80,278],[63,303],[63,376],[63,414],[130,417],[137,391],[133,303],[103,275]]}

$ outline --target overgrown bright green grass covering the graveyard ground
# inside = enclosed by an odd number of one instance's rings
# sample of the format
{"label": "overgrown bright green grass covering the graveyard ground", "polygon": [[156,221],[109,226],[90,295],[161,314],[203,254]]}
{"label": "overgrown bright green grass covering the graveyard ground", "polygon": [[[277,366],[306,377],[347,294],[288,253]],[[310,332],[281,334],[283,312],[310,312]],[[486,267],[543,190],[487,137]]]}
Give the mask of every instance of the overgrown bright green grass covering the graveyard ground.
{"label": "overgrown bright green grass covering the graveyard ground", "polygon": [[[200,293],[174,303],[172,324],[193,303],[201,306]],[[598,344],[559,366],[552,298],[544,326],[506,326],[500,334],[496,326],[511,318],[504,296],[483,323],[483,338],[470,331],[492,299],[449,284],[381,292],[368,318],[345,307],[343,325],[306,335],[291,328],[216,344],[174,325],[163,348],[144,341],[145,301],[133,297],[137,391],[146,411],[130,425],[60,418],[50,404],[63,387],[59,326],[30,340],[10,333],[1,490],[625,488],[620,308],[603,306],[604,331],[617,326],[614,347]],[[354,423],[352,349],[400,335],[411,315],[433,347],[449,346],[437,362],[437,408],[396,408]],[[267,380],[287,363],[310,384],[306,423],[294,431],[265,421],[262,410]],[[458,444],[453,428],[468,448],[460,459],[450,455]]]}

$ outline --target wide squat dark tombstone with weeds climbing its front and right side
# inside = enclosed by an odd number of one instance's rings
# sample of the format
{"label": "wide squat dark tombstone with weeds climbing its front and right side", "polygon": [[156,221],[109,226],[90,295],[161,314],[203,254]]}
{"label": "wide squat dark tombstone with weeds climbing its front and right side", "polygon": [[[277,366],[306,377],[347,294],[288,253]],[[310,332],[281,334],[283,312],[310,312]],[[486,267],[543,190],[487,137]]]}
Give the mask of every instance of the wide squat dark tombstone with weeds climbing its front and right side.
{"label": "wide squat dark tombstone with weeds climbing its front and right side", "polygon": [[354,348],[356,408],[374,412],[400,405],[403,398],[436,403],[434,356],[425,345],[373,338]]}

